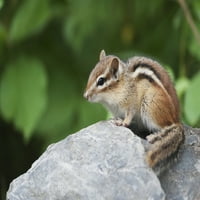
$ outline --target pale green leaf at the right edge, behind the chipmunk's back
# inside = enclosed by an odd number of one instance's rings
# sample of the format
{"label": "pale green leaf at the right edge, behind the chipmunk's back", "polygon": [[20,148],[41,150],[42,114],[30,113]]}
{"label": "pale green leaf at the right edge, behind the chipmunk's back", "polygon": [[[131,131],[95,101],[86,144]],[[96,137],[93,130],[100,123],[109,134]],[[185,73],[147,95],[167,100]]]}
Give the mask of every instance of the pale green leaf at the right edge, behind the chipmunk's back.
{"label": "pale green leaf at the right edge, behind the chipmunk's back", "polygon": [[184,112],[191,125],[195,125],[200,119],[200,72],[191,80],[185,94]]}

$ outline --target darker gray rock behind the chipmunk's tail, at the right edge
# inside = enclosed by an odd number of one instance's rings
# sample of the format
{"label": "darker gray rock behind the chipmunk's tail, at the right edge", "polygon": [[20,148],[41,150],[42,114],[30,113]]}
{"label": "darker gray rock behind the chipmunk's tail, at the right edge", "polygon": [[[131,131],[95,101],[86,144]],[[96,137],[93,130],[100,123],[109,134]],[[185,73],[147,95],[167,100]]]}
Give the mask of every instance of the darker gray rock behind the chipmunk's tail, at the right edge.
{"label": "darker gray rock behind the chipmunk's tail, at the right edge", "polygon": [[200,129],[184,132],[176,162],[159,177],[167,200],[200,200]]}

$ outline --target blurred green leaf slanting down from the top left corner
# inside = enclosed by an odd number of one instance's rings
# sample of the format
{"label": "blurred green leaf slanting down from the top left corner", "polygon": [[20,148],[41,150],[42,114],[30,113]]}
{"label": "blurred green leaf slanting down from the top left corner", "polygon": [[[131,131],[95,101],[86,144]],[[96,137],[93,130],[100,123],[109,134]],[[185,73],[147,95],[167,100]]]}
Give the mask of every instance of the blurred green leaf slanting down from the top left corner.
{"label": "blurred green leaf slanting down from the top left corner", "polygon": [[41,31],[50,14],[49,0],[24,0],[13,17],[10,40],[23,40]]}

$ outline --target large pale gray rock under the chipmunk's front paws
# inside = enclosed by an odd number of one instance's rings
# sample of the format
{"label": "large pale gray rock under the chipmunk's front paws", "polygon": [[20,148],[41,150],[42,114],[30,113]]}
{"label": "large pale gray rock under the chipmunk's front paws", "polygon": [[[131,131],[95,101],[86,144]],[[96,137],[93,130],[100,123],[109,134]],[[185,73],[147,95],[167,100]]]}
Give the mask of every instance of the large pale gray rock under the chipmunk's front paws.
{"label": "large pale gray rock under the chipmunk's front paws", "polygon": [[165,193],[144,161],[142,140],[99,122],[49,146],[10,184],[7,199],[162,200]]}

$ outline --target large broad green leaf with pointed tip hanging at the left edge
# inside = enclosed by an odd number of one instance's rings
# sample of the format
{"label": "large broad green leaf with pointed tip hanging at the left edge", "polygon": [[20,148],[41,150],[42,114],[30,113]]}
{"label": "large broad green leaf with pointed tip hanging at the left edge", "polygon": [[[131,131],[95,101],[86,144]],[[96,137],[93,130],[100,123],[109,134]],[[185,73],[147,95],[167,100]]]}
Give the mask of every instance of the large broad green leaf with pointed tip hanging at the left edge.
{"label": "large broad green leaf with pointed tip hanging at the left edge", "polygon": [[0,109],[29,139],[46,107],[47,77],[36,58],[21,56],[6,66],[0,83]]}

